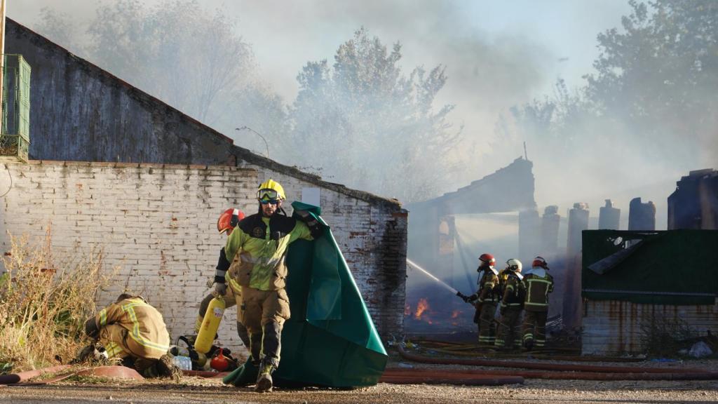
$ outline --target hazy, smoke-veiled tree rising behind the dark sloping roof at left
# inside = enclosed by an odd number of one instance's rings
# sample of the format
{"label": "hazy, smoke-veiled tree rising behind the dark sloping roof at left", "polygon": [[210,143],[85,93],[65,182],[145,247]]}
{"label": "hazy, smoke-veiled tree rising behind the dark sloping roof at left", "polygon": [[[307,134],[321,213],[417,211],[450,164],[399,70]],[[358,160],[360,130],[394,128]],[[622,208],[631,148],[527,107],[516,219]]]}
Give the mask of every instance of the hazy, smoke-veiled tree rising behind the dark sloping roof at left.
{"label": "hazy, smoke-veiled tree rising behind the dark sloping roof at left", "polygon": [[[79,22],[43,9],[38,29],[64,45],[77,44]],[[78,50],[133,86],[162,99],[202,123],[245,139],[248,126],[269,139],[286,132],[286,107],[258,80],[251,46],[236,33],[236,22],[218,9],[207,12],[196,0],[138,0],[103,3],[89,22]],[[238,144],[261,144],[246,137]],[[252,147],[255,150],[264,150]],[[264,154],[264,152],[262,152]]]}

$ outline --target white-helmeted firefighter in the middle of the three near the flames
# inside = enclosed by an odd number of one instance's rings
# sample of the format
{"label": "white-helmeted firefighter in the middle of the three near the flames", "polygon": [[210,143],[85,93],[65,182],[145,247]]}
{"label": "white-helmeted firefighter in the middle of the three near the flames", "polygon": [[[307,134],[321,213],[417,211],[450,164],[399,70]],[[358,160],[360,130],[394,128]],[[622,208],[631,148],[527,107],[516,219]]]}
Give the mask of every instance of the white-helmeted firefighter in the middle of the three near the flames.
{"label": "white-helmeted firefighter in the middle of the three near the flames", "polygon": [[509,350],[512,347],[520,348],[521,339],[518,339],[518,326],[520,325],[523,297],[526,294],[521,280],[521,261],[511,258],[506,261],[508,270],[506,286],[503,290],[499,313],[501,318],[496,334],[495,347],[500,350]]}

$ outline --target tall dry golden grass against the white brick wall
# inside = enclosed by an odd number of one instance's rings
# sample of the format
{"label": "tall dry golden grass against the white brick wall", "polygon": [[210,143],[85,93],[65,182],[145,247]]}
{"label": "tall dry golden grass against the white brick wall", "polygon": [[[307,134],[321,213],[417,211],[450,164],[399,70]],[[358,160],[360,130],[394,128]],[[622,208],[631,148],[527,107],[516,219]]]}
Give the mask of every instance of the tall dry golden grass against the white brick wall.
{"label": "tall dry golden grass against the white brick wall", "polygon": [[88,343],[84,322],[111,277],[103,273],[103,252],[52,257],[50,245],[49,232],[36,243],[11,237],[0,277],[0,368],[67,363]]}

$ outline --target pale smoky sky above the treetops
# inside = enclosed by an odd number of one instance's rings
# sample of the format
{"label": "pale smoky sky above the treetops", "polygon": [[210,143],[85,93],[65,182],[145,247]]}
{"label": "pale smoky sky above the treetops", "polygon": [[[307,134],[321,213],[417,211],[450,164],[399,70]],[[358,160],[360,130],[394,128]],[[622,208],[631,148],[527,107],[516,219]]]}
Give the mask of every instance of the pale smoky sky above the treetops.
{"label": "pale smoky sky above the treetops", "polygon": [[[32,27],[45,6],[85,20],[93,17],[96,3],[63,0],[58,7],[57,0],[8,0],[7,14]],[[337,46],[359,27],[384,42],[401,42],[406,70],[447,65],[444,101],[465,96],[465,81],[458,79],[465,74],[464,66],[458,62],[467,55],[461,53],[482,50],[469,45],[452,48],[451,42],[483,43],[505,53],[522,52],[526,58],[551,56],[539,63],[540,71],[520,91],[521,96],[541,96],[559,75],[571,86],[582,83],[582,75],[592,69],[597,56],[597,33],[620,24],[629,9],[623,0],[202,0],[199,4],[237,19],[238,32],[253,46],[264,78],[289,100],[297,93],[296,76],[302,65],[308,60],[331,60]],[[499,52],[497,59],[502,57],[506,55]]]}

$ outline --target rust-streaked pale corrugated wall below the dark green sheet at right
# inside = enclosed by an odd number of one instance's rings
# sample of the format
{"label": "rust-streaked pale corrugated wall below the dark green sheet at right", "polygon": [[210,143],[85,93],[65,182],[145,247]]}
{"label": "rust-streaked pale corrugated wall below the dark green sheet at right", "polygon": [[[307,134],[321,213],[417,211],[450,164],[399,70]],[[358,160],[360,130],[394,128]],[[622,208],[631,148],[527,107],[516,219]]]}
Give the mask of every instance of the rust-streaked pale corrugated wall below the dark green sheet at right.
{"label": "rust-streaked pale corrugated wall below the dark green sheet at right", "polygon": [[618,300],[586,300],[582,353],[641,354],[641,326],[651,321],[683,322],[697,335],[718,331],[718,301],[713,306],[668,306]]}

